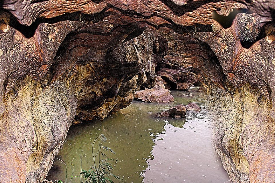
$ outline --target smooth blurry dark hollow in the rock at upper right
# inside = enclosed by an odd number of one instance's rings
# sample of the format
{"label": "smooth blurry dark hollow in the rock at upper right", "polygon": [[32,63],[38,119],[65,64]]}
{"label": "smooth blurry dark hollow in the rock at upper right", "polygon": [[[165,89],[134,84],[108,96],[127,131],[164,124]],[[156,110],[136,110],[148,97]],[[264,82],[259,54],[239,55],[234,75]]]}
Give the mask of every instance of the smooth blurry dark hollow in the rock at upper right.
{"label": "smooth blurry dark hollow in the rock at upper right", "polygon": [[223,28],[227,29],[231,27],[233,20],[235,19],[236,15],[239,13],[246,13],[246,14],[252,14],[255,13],[252,10],[249,9],[234,9],[231,13],[229,13],[228,16],[222,16],[219,15],[216,11],[213,11],[212,17],[215,21],[217,21]]}

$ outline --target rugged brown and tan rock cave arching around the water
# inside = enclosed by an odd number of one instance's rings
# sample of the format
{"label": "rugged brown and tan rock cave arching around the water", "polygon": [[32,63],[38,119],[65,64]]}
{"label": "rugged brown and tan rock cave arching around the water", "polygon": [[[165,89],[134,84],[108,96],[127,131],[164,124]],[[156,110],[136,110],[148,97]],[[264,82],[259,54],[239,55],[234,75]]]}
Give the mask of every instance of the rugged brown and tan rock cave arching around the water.
{"label": "rugged brown and tan rock cave arching around the water", "polygon": [[[213,143],[231,182],[275,182],[274,1],[0,8],[0,182],[47,182],[72,125],[102,121],[134,98],[170,102],[168,89],[194,85],[210,97]],[[160,99],[135,96],[158,83]]]}

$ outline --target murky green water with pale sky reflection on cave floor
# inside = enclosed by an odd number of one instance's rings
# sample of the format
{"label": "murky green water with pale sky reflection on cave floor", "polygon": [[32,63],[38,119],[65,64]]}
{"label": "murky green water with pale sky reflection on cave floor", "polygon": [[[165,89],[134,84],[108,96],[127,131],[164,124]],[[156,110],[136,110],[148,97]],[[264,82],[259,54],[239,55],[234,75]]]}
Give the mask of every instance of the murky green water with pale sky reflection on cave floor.
{"label": "murky green water with pale sky reflection on cave floor", "polygon": [[[72,164],[74,175],[80,173],[80,154],[85,155],[82,169],[93,165],[92,143],[103,133],[108,139],[104,145],[116,153],[107,153],[108,157],[119,160],[113,162],[113,174],[123,177],[123,182],[227,182],[229,177],[211,143],[213,124],[205,94],[194,91],[192,97],[181,97],[186,92],[171,93],[174,103],[133,101],[104,121],[94,120],[72,126],[57,156],[67,164],[68,180]],[[186,119],[157,117],[160,111],[190,102],[199,105],[202,111],[188,111]],[[56,159],[47,179],[61,179],[65,183],[65,165]],[[80,179],[72,182],[78,183]]]}

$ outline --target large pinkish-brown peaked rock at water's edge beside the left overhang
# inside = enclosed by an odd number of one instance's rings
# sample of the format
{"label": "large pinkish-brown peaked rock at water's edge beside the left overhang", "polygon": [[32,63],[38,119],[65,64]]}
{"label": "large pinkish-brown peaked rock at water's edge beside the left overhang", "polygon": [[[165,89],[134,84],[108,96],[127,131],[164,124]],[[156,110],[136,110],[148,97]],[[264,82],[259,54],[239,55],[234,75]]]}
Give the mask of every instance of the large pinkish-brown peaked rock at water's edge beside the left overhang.
{"label": "large pinkish-brown peaked rock at water's edge beside the left overhang", "polygon": [[145,88],[145,90],[135,92],[134,99],[150,103],[168,103],[174,101],[170,90],[165,89],[164,84],[158,79],[156,79],[156,84],[153,88]]}

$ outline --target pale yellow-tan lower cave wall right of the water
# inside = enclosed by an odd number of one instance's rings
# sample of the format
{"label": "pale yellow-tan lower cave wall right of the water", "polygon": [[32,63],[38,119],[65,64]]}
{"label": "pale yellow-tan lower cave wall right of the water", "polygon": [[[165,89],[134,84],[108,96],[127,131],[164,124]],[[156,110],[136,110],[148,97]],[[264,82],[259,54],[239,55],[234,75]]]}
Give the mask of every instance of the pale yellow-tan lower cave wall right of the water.
{"label": "pale yellow-tan lower cave wall right of the water", "polygon": [[[274,121],[256,86],[217,90],[214,144],[232,182],[274,182]],[[224,121],[227,121],[226,123]]]}

